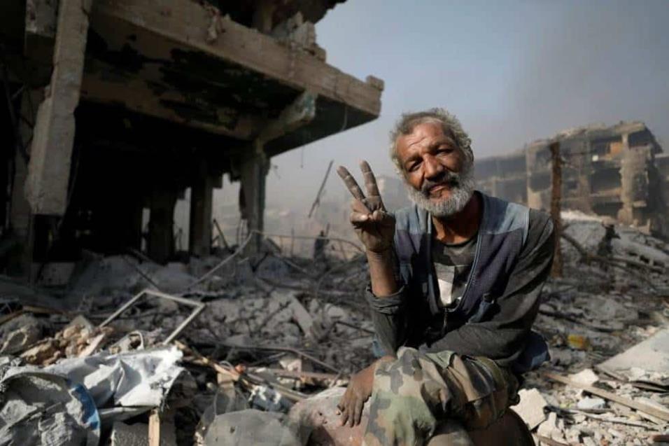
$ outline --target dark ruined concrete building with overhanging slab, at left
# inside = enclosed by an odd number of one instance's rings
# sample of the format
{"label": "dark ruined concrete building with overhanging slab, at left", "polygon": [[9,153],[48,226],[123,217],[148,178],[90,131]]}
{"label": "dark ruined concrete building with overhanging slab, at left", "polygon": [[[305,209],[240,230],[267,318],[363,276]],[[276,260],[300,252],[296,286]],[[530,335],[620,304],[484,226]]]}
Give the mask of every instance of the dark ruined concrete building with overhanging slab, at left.
{"label": "dark ruined concrete building with overhanging slab, at left", "polygon": [[189,251],[209,253],[223,174],[262,230],[272,156],[379,116],[383,82],[316,43],[341,1],[3,1],[3,270],[143,241],[165,262],[187,188]]}

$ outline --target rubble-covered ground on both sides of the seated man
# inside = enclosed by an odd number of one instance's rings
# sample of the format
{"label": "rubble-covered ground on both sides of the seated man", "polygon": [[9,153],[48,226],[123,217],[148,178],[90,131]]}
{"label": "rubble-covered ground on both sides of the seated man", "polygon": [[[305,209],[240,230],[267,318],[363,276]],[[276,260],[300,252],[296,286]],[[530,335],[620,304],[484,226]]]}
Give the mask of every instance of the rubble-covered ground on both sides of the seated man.
{"label": "rubble-covered ground on both sides of the seated man", "polygon": [[[535,325],[551,363],[515,409],[542,444],[647,444],[668,431],[669,245],[565,226]],[[2,279],[0,445],[304,444],[314,421],[291,407],[373,360],[366,267],[264,251],[164,266],[90,253],[67,286]]]}

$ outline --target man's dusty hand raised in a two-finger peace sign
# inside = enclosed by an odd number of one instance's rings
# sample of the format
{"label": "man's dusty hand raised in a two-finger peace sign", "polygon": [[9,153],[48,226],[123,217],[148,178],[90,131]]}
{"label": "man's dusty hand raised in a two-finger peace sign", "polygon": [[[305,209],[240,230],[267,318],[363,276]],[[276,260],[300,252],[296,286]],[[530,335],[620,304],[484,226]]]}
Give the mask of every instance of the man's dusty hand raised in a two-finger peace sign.
{"label": "man's dusty hand raised in a two-finger peace sign", "polygon": [[381,253],[393,246],[395,235],[395,217],[386,212],[383,200],[376,186],[376,178],[367,161],[360,162],[360,170],[365,178],[367,197],[362,193],[360,186],[344,166],[337,167],[337,174],[346,183],[346,187],[353,195],[351,202],[351,224],[365,245],[367,251]]}

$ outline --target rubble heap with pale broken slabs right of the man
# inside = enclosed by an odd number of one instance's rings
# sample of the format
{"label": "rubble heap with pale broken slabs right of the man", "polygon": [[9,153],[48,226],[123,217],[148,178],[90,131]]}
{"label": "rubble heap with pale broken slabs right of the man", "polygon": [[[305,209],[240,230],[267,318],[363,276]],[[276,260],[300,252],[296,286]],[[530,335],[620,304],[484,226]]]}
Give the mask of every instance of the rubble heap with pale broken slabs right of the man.
{"label": "rubble heap with pale broken slabs right of the man", "polygon": [[633,228],[607,236],[574,212],[563,220],[563,277],[547,282],[535,323],[551,361],[526,375],[514,409],[537,444],[668,442],[657,435],[669,428],[669,244]]}

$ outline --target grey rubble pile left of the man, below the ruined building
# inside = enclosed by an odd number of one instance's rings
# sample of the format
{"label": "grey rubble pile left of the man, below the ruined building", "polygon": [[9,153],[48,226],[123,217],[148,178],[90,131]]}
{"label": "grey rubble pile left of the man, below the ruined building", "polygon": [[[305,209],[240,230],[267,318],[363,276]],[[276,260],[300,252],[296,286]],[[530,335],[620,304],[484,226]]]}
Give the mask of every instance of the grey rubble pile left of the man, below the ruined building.
{"label": "grey rubble pile left of the man, below the ruined building", "polygon": [[[0,444],[146,444],[153,414],[161,445],[216,444],[206,435],[223,414],[290,424],[295,403],[345,386],[374,359],[362,256],[314,262],[266,248],[167,265],[90,254],[69,286],[32,295],[0,279],[0,389],[17,389],[4,393]],[[36,415],[54,400],[69,403]],[[295,435],[281,444],[304,444]]]}

